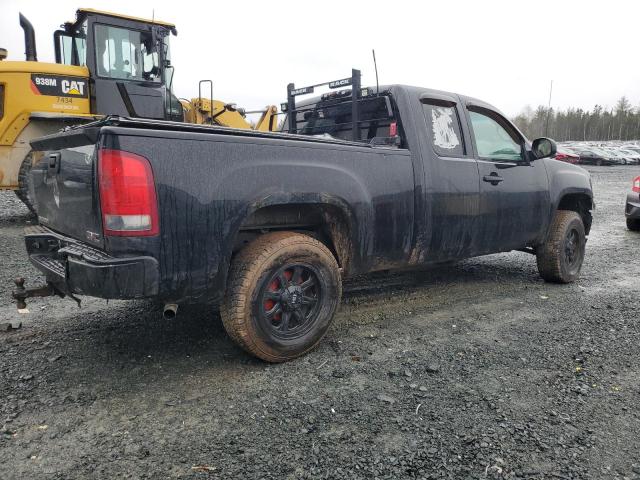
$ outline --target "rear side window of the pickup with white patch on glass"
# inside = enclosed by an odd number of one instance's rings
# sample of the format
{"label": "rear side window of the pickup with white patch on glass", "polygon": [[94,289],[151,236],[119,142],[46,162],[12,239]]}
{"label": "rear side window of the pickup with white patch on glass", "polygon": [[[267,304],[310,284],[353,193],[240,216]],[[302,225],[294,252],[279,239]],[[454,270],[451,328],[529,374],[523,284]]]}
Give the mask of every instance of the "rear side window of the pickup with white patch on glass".
{"label": "rear side window of the pickup with white patch on glass", "polygon": [[456,108],[423,103],[422,110],[436,154],[440,157],[463,157],[465,149]]}

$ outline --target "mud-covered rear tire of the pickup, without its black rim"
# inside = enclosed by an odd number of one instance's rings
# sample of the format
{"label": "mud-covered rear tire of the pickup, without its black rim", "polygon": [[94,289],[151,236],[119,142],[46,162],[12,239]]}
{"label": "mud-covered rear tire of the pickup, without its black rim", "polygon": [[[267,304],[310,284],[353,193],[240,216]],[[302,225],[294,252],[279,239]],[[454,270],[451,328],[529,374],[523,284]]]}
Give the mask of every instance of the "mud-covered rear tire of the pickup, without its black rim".
{"label": "mud-covered rear tire of the pickup, without its black rim", "polygon": [[[309,315],[300,338],[278,338],[261,315],[270,279],[287,265],[305,265],[318,282],[317,316]],[[275,272],[275,273],[274,273]],[[301,233],[272,232],[258,237],[231,262],[220,315],[229,336],[267,362],[284,362],[312,350],[324,337],[340,304],[342,281],[335,257],[318,240]],[[291,280],[287,280],[291,281]],[[293,283],[291,283],[293,285]]]}

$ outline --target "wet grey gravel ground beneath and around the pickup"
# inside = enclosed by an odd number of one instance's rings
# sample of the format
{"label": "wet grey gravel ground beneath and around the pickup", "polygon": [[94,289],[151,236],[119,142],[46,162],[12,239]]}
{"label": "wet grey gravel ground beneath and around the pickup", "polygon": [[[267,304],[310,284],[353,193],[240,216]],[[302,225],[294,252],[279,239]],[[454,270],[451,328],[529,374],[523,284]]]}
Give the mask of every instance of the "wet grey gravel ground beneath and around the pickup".
{"label": "wet grey gravel ground beneath and around the pickup", "polygon": [[640,478],[640,167],[593,167],[581,280],[509,253],[346,285],[311,354],[268,365],[216,313],[39,299],[0,192],[0,478]]}

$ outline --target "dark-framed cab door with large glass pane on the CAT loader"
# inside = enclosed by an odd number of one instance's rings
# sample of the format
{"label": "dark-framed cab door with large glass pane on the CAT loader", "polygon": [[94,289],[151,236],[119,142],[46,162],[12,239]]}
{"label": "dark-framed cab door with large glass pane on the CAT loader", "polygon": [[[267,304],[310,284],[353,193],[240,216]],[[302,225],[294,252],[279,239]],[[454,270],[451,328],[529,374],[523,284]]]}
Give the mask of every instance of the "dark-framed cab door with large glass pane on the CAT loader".
{"label": "dark-framed cab door with large glass pane on the CAT loader", "polygon": [[88,61],[95,113],[164,119],[166,87],[151,31],[93,23]]}

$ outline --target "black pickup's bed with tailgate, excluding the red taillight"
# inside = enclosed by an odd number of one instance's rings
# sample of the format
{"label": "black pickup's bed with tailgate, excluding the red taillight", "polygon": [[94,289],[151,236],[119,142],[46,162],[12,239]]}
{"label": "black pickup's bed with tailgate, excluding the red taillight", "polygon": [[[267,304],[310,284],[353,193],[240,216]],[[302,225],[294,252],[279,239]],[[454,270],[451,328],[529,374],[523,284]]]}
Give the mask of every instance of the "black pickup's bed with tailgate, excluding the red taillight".
{"label": "black pickup's bed with tailgate, excluding the red taillight", "polygon": [[[234,250],[255,232],[285,225],[333,237],[345,275],[403,265],[411,255],[415,184],[406,149],[122,117],[32,146],[42,152],[33,168],[40,222],[53,240],[142,258],[147,270],[138,275],[158,269],[154,296],[215,300]],[[97,173],[103,149],[149,161],[158,235],[104,234]]]}

